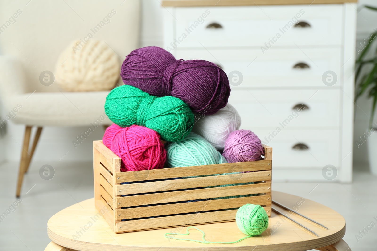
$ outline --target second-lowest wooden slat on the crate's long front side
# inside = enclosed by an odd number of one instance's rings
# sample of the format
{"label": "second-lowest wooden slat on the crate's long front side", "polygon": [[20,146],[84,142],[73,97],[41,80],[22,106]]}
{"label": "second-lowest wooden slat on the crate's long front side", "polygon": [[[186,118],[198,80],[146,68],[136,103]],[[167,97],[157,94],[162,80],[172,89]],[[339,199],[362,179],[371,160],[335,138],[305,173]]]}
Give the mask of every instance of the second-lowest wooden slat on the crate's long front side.
{"label": "second-lowest wooden slat on the crate's long front side", "polygon": [[269,205],[270,196],[250,196],[228,199],[215,199],[209,201],[195,201],[138,208],[115,209],[115,219],[135,219],[149,216],[161,216],[179,213],[202,212],[241,207],[245,204]]}

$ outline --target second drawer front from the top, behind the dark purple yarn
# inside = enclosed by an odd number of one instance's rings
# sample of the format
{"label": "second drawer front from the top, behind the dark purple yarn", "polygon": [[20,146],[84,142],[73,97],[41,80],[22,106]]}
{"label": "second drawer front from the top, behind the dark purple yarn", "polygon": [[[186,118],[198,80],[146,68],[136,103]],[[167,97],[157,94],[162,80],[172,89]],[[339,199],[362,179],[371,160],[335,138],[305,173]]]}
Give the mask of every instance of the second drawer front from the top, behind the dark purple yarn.
{"label": "second drawer front from the top, behind the dark purple yarn", "polygon": [[[330,84],[342,85],[340,47],[302,48],[302,50],[297,47],[271,48],[265,54],[258,49],[177,49],[175,56],[185,60],[203,59],[214,62],[228,75],[232,71],[239,71],[243,80],[237,83],[231,82],[232,88],[326,87],[322,78],[328,70],[334,71],[336,75],[332,79],[334,84]],[[229,75],[230,80],[232,76]]]}

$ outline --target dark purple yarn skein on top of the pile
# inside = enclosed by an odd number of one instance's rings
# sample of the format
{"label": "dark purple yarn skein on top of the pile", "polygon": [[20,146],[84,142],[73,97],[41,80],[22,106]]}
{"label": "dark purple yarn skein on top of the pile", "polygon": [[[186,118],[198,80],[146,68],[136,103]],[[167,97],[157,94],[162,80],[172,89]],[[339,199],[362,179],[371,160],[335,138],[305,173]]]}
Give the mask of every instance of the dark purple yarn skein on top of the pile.
{"label": "dark purple yarn skein on top of the pile", "polygon": [[160,47],[133,50],[121,67],[120,76],[154,96],[178,97],[193,113],[214,114],[228,103],[230,85],[225,72],[204,60],[176,60]]}

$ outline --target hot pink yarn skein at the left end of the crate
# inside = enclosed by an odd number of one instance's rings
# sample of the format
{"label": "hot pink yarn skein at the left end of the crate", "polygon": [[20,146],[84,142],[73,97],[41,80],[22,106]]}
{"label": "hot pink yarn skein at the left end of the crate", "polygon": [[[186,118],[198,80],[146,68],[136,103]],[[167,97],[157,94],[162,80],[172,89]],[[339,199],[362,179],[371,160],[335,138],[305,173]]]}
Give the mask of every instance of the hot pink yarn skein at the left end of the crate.
{"label": "hot pink yarn skein at the left end of the crate", "polygon": [[159,169],[166,160],[160,135],[144,126],[132,125],[118,130],[110,150],[121,158],[121,172]]}

